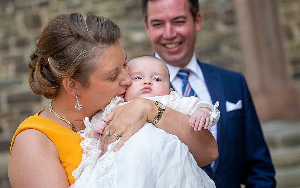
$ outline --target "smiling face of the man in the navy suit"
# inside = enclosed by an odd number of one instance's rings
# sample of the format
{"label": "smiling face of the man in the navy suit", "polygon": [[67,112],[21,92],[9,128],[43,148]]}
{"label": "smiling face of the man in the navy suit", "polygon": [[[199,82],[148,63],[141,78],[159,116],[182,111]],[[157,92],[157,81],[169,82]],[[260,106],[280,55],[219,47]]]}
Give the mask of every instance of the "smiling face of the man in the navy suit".
{"label": "smiling face of the man in the navy suit", "polygon": [[173,66],[184,67],[193,56],[201,15],[193,20],[187,0],[148,2],[146,32],[158,55]]}

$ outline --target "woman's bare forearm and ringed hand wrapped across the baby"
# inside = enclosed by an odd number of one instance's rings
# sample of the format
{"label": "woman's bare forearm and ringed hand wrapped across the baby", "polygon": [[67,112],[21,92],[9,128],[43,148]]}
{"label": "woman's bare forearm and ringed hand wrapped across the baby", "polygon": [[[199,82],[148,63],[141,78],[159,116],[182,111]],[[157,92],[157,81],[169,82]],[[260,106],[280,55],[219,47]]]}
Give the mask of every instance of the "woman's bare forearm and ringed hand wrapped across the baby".
{"label": "woman's bare forearm and ringed hand wrapped across the baby", "polygon": [[[111,120],[104,132],[110,131],[120,138],[114,151],[117,151],[126,140],[136,133],[146,122],[151,122],[158,112],[155,101],[137,98],[128,104],[119,106],[107,118]],[[217,143],[208,130],[194,131],[189,125],[190,117],[166,107],[160,121],[155,125],[170,134],[176,135],[189,147],[190,153],[196,159],[198,166],[204,166],[215,160],[218,156]],[[104,152],[107,146],[116,141],[114,136],[101,136],[101,149]]]}

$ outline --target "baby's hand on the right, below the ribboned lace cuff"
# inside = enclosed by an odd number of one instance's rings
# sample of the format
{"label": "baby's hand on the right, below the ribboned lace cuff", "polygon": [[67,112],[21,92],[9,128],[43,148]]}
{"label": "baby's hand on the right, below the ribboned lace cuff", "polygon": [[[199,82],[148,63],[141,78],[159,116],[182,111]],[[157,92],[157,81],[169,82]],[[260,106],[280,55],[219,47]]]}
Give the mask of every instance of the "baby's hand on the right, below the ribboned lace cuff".
{"label": "baby's hand on the right, below the ribboned lace cuff", "polygon": [[192,116],[190,117],[190,126],[194,127],[195,131],[200,131],[202,126],[204,125],[204,129],[207,129],[209,125],[209,108],[198,108],[193,112]]}

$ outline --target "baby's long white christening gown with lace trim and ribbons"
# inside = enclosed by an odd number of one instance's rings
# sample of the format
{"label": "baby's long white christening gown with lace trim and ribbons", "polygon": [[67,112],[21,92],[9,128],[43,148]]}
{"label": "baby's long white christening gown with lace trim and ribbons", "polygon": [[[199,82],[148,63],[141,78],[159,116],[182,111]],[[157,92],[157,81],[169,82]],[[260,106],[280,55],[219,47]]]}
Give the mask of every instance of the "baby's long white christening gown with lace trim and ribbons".
{"label": "baby's long white christening gown with lace trim and ribbons", "polygon": [[[171,92],[163,97],[146,97],[160,101],[165,106],[187,115],[199,108],[212,110],[211,120],[215,124],[220,113],[216,105],[196,97],[180,97]],[[195,159],[177,136],[146,123],[137,133],[130,137],[119,151],[113,152],[118,140],[108,146],[108,151],[101,155],[100,139],[88,138],[91,127],[102,116],[106,116],[117,106],[123,105],[123,99],[115,97],[81,131],[82,161],[73,171],[75,183],[71,187],[118,187],[118,188],[201,188],[215,187],[214,182],[198,167]],[[197,143],[195,143],[197,144]]]}

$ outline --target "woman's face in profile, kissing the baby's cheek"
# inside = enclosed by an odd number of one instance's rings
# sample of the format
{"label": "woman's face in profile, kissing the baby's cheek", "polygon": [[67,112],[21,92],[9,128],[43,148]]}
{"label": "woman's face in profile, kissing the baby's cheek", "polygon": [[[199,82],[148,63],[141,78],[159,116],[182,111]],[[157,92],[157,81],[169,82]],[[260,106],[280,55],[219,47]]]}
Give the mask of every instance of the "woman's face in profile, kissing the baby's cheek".
{"label": "woman's face in profile, kissing the baby's cheek", "polygon": [[123,97],[127,85],[131,84],[126,63],[127,55],[119,41],[111,45],[99,57],[99,64],[91,74],[88,88],[82,92],[79,100],[83,108],[88,106],[93,110],[105,108],[116,97]]}

